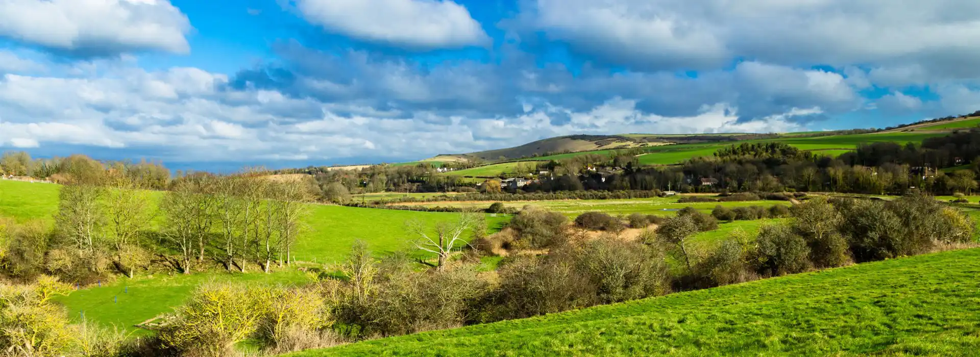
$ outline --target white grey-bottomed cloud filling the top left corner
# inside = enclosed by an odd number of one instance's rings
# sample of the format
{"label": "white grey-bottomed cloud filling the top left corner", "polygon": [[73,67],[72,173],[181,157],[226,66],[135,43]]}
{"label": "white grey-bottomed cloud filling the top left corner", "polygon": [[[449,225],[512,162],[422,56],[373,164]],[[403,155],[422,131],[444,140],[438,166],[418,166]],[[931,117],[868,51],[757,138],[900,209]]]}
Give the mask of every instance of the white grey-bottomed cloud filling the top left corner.
{"label": "white grey-bottomed cloud filling the top left corner", "polygon": [[0,36],[77,56],[187,53],[190,29],[168,0],[0,0]]}

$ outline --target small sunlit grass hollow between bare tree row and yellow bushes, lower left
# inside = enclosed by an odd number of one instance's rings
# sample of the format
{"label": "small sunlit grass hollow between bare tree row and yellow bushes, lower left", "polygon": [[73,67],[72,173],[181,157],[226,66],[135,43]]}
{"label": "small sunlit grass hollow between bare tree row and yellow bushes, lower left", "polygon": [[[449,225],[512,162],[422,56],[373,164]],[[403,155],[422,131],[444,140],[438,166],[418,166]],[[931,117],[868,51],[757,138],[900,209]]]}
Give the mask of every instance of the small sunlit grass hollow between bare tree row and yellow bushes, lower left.
{"label": "small sunlit grass hollow between bare tree row and yellow bushes, lower left", "polygon": [[136,335],[149,334],[134,328],[171,308],[201,284],[213,281],[255,285],[289,285],[309,282],[306,273],[286,270],[275,274],[204,273],[181,275],[157,274],[153,277],[122,278],[111,284],[103,284],[83,290],[75,290],[68,296],[55,300],[66,306],[73,321],[85,320],[102,326],[115,326]]}

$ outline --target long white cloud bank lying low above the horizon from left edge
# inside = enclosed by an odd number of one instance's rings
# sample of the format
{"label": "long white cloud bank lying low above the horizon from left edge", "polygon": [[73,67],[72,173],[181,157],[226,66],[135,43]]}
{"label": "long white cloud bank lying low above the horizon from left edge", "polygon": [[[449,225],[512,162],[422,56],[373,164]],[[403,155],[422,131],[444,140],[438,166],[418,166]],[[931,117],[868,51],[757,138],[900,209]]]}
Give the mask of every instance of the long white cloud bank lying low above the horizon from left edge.
{"label": "long white cloud bank lying low above the horizon from left edge", "polygon": [[[613,97],[587,110],[540,99],[526,112],[392,113],[357,101],[288,90],[239,88],[198,68],[110,68],[83,77],[7,74],[0,79],[0,147],[48,155],[66,146],[156,153],[175,161],[411,159],[466,153],[576,133],[784,131],[794,113],[746,120],[728,103],[691,115],[646,112]],[[417,75],[413,74],[413,75]],[[148,89],[149,88],[149,89]],[[438,100],[436,101],[439,102]],[[782,112],[780,112],[782,114]],[[561,118],[558,120],[556,118]],[[76,147],[74,147],[76,148]]]}

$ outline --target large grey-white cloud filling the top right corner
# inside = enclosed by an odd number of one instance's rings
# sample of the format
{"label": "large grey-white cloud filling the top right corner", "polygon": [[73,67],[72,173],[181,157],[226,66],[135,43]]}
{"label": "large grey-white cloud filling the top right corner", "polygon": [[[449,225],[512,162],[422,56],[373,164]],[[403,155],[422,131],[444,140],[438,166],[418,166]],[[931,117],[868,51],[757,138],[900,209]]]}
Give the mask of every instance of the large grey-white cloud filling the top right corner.
{"label": "large grey-white cloud filling the top right corner", "polygon": [[535,0],[518,27],[613,65],[704,69],[743,58],[787,66],[921,63],[980,74],[970,0]]}

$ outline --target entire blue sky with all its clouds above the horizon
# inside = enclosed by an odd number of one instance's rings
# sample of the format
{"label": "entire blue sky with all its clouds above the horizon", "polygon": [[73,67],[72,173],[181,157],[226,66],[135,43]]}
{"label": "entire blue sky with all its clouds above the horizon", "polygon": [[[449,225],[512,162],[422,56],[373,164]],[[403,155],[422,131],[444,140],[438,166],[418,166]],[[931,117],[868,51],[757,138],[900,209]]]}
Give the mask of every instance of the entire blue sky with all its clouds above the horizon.
{"label": "entire blue sky with all its clouds above the horizon", "polygon": [[0,151],[188,168],[980,110],[975,0],[0,0]]}

